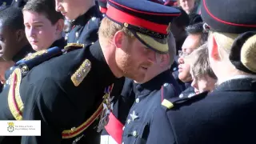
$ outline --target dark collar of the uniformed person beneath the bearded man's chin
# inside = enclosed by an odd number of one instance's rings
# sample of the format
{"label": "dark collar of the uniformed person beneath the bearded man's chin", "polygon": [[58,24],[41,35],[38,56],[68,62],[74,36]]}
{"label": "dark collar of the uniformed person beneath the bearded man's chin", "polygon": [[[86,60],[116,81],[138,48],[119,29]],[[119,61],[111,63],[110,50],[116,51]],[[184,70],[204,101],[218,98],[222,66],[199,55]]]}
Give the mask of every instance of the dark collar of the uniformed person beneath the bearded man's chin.
{"label": "dark collar of the uniformed person beneath the bearded man's chin", "polygon": [[149,82],[138,84],[134,83],[134,93],[148,94],[151,91],[161,89],[164,83],[170,83],[170,70],[166,70],[156,77],[151,79]]}

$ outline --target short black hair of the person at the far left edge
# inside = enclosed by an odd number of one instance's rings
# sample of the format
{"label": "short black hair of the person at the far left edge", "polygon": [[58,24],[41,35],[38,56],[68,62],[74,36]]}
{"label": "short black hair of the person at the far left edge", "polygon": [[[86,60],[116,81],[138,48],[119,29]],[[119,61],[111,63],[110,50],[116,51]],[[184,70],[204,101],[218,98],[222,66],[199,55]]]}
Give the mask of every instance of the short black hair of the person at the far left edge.
{"label": "short black hair of the person at the far left edge", "polygon": [[8,6],[0,10],[2,26],[8,26],[9,30],[24,30],[22,9]]}

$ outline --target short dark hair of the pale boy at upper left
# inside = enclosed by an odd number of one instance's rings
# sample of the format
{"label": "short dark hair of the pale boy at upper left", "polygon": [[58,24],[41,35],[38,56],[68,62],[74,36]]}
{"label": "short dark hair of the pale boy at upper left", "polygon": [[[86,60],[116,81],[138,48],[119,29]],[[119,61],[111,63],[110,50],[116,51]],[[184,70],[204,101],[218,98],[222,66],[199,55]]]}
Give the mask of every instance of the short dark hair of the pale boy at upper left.
{"label": "short dark hair of the pale boy at upper left", "polygon": [[46,18],[54,25],[63,16],[55,11],[54,0],[29,0],[23,8],[23,11],[32,11],[38,14],[44,14]]}

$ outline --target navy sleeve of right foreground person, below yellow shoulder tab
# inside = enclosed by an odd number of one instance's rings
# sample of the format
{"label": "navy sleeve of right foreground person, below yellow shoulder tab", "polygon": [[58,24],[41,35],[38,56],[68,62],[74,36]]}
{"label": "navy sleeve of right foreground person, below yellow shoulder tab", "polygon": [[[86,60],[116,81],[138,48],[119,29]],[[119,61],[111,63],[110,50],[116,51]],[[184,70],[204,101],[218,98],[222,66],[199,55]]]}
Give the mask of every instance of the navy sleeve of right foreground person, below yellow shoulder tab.
{"label": "navy sleeve of right foreground person, below yellow shoulder tab", "polygon": [[176,144],[174,132],[170,125],[166,111],[158,107],[150,124],[150,134],[146,144]]}

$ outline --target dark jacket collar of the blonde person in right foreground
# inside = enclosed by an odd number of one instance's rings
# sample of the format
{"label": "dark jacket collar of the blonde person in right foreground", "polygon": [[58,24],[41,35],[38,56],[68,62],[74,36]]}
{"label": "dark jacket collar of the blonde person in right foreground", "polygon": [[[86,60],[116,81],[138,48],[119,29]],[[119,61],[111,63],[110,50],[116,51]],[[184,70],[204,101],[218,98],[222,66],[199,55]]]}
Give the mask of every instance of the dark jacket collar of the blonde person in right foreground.
{"label": "dark jacket collar of the blonde person in right foreground", "polygon": [[255,91],[256,78],[232,78],[216,87],[217,91]]}

